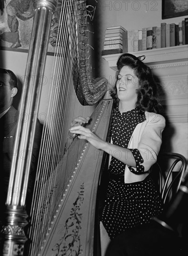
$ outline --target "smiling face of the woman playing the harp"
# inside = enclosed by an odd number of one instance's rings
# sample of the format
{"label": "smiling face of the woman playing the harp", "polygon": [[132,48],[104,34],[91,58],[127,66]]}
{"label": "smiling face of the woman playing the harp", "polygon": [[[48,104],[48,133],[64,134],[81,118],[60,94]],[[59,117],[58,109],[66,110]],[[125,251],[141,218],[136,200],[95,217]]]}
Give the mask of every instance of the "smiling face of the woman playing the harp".
{"label": "smiling face of the woman playing the harp", "polygon": [[118,74],[116,83],[117,95],[120,101],[137,101],[136,90],[139,88],[138,77],[134,74],[134,69],[123,66]]}

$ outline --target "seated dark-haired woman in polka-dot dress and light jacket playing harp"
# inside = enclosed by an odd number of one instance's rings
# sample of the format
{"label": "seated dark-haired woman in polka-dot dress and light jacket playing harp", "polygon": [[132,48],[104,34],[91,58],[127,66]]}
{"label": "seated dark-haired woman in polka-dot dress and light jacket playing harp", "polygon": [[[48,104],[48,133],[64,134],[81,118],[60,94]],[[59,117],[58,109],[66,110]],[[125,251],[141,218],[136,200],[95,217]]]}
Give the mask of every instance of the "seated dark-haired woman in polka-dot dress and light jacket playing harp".
{"label": "seated dark-haired woman in polka-dot dress and light jacket playing harp", "polygon": [[156,84],[149,67],[132,54],[122,54],[117,68],[116,86],[111,93],[115,101],[112,143],[82,126],[70,129],[111,157],[101,214],[102,255],[107,236],[113,239],[126,229],[148,223],[162,211],[161,197],[149,175],[165,128],[165,119],[159,114]]}

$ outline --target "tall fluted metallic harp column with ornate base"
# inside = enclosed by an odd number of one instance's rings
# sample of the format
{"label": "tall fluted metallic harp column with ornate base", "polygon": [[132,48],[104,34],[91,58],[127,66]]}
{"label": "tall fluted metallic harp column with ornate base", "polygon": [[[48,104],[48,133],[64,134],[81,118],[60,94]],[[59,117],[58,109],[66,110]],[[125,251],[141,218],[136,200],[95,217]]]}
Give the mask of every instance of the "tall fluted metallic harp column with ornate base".
{"label": "tall fluted metallic harp column with ornate base", "polygon": [[[35,0],[34,25],[27,58],[27,67],[23,93],[21,96],[20,113],[29,113],[29,120],[19,118],[13,162],[8,186],[6,211],[1,223],[0,255],[22,256],[27,237],[24,227],[27,225],[25,198],[29,177],[29,168],[33,148],[34,131],[41,93],[41,78],[47,54],[47,46],[52,15],[57,6],[57,0]],[[26,157],[19,157],[16,152],[24,150]]]}

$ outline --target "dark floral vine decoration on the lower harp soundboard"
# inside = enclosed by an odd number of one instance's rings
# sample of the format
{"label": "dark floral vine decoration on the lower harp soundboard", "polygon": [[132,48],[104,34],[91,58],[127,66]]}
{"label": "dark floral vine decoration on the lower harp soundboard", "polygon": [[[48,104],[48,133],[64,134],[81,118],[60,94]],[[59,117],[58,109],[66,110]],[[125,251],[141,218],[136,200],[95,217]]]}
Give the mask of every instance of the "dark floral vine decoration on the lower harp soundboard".
{"label": "dark floral vine decoration on the lower harp soundboard", "polygon": [[78,192],[78,197],[73,203],[70,217],[66,220],[66,223],[61,230],[63,232],[63,236],[60,239],[60,242],[56,243],[52,249],[54,252],[56,252],[55,256],[81,255],[82,249],[79,231],[81,230],[81,204],[83,201],[84,184],[81,184],[80,192]]}

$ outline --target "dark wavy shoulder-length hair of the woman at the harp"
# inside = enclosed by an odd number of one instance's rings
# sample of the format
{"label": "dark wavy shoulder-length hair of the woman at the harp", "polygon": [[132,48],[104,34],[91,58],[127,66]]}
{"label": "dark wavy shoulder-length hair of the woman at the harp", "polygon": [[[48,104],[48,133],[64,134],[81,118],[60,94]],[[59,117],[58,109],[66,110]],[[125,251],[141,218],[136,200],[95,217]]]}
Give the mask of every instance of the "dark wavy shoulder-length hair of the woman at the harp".
{"label": "dark wavy shoulder-length hair of the woman at the harp", "polygon": [[124,66],[134,69],[134,74],[139,79],[136,102],[136,108],[138,111],[140,113],[143,113],[144,111],[160,113],[162,107],[158,100],[157,84],[154,81],[153,74],[148,66],[132,54],[121,54],[117,61],[118,71],[116,72],[115,88],[110,91],[110,95],[114,99],[115,106],[118,106],[119,103],[116,88],[117,77],[121,68]]}

